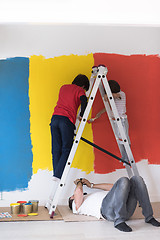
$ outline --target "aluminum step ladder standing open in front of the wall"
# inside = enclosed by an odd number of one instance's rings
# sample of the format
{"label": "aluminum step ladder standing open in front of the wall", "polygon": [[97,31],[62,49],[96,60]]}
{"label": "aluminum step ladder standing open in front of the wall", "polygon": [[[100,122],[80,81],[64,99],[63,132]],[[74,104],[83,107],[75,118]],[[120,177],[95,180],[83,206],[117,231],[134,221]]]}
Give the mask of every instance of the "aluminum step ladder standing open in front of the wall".
{"label": "aluminum step ladder standing open in front of the wall", "polygon": [[[104,106],[106,108],[106,112],[108,114],[108,117],[109,117],[112,129],[113,129],[114,135],[115,135],[116,140],[117,140],[117,144],[119,146],[118,138],[115,134],[114,124],[113,124],[112,118],[110,117],[110,115],[111,115],[110,107],[112,109],[112,112],[113,112],[118,130],[119,130],[119,133],[120,133],[120,136],[121,136],[121,139],[122,139],[122,144],[124,145],[124,148],[126,150],[126,153],[127,153],[128,159],[129,159],[129,163],[124,161],[124,165],[126,167],[128,176],[130,178],[133,175],[136,175],[136,176],[139,175],[138,169],[136,167],[136,163],[134,161],[134,157],[133,157],[133,154],[132,154],[132,151],[131,151],[131,148],[130,148],[130,144],[129,144],[127,138],[126,138],[125,131],[124,131],[123,125],[121,123],[121,119],[119,117],[119,114],[118,114],[118,111],[117,111],[117,108],[116,108],[116,105],[115,105],[115,101],[114,101],[112,92],[110,90],[110,87],[109,87],[109,84],[108,84],[108,81],[107,81],[107,77],[106,77],[107,72],[108,72],[107,67],[105,67],[104,65],[100,65],[98,67],[94,66],[92,68],[92,75],[91,75],[91,79],[90,79],[90,88],[89,88],[88,92],[86,93],[86,95],[89,96],[88,104],[87,104],[87,107],[86,107],[85,112],[83,114],[83,118],[82,118],[81,122],[79,123],[79,126],[78,126],[78,122],[76,122],[77,133],[76,133],[76,136],[75,136],[75,139],[74,139],[69,157],[67,159],[67,162],[66,162],[61,180],[59,182],[57,190],[55,191],[55,195],[53,197],[53,200],[51,202],[51,206],[50,206],[50,209],[49,209],[49,215],[50,215],[51,218],[53,218],[53,216],[54,216],[59,197],[61,195],[63,187],[65,186],[67,175],[69,173],[72,161],[74,159],[74,156],[75,156],[75,153],[76,153],[76,150],[77,150],[77,147],[78,147],[79,142],[81,140],[81,136],[82,136],[85,124],[87,122],[87,119],[88,119],[88,116],[89,116],[90,110],[92,108],[92,104],[94,102],[94,99],[95,99],[95,96],[97,94],[98,89],[99,89],[101,97],[103,99]],[[104,93],[105,93],[104,89],[105,89],[105,92],[108,96],[109,103],[104,101]],[[109,104],[110,104],[110,106],[109,106]]]}

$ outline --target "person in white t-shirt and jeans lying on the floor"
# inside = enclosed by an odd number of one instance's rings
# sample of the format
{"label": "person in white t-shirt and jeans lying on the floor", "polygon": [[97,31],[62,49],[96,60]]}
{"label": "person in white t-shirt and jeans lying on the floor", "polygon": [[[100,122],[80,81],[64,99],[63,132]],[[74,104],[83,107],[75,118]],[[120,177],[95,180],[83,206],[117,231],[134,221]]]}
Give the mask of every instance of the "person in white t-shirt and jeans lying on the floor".
{"label": "person in white t-shirt and jeans lying on the floor", "polygon": [[[116,229],[131,232],[131,227],[125,221],[133,215],[139,202],[145,222],[155,227],[160,226],[160,222],[153,217],[147,187],[142,177],[133,176],[131,179],[122,177],[114,185],[93,184],[85,178],[76,179],[74,183],[76,185],[74,195],[69,198],[69,207],[74,214],[113,221]],[[101,191],[84,195],[83,185]]]}

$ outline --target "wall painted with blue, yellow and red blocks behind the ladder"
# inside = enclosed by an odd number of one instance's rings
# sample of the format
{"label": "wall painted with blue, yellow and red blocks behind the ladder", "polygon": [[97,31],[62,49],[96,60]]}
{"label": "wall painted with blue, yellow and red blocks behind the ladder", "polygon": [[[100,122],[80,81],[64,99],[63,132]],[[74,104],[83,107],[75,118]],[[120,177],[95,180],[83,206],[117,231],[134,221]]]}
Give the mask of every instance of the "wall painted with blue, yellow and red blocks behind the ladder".
{"label": "wall painted with blue, yellow and red blocks behind the ladder", "polygon": [[[39,199],[40,204],[44,204],[52,185],[49,121],[59,87],[70,83],[79,72],[90,77],[95,63],[105,63],[109,68],[109,78],[120,81],[127,93],[133,154],[147,183],[151,200],[159,200],[160,190],[156,184],[160,164],[156,105],[159,28],[1,24],[0,35],[0,99],[3,105],[0,205],[30,199]],[[97,99],[92,114],[101,107]],[[119,155],[113,144],[110,126],[105,126],[105,121],[107,116],[104,115],[97,128],[87,125],[83,136],[104,145],[104,148],[111,147]],[[96,134],[104,129],[108,137],[105,139],[102,134],[99,142]],[[66,197],[72,193],[72,182],[76,177],[86,176],[93,182],[114,182],[126,175],[126,170],[116,160],[107,158],[106,161],[104,158],[91,147],[80,144],[61,203],[66,203]]]}

